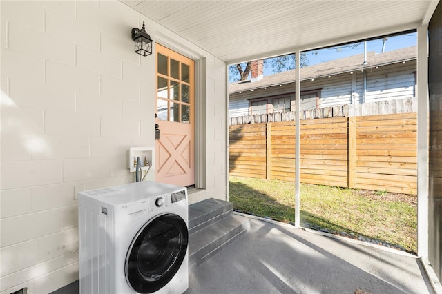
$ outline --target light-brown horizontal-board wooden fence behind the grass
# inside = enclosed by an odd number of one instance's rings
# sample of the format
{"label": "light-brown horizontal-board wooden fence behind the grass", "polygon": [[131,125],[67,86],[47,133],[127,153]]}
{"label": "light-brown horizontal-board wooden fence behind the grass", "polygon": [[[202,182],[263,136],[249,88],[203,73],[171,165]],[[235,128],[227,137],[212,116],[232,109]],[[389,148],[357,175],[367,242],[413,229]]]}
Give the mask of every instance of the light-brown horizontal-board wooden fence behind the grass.
{"label": "light-brown horizontal-board wooden fence behind the grass", "polygon": [[[229,173],[294,181],[295,121],[229,126]],[[300,121],[300,182],[416,194],[416,112]]]}

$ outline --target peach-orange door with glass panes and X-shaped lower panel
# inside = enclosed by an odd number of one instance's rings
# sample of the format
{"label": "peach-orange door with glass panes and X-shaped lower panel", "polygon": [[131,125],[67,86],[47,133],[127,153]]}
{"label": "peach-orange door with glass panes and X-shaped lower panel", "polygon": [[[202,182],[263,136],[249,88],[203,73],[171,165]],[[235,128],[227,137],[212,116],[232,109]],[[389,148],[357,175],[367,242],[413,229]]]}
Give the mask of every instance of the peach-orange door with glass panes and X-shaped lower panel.
{"label": "peach-orange door with glass panes and X-shaped lower panel", "polygon": [[157,43],[157,182],[195,184],[195,61]]}

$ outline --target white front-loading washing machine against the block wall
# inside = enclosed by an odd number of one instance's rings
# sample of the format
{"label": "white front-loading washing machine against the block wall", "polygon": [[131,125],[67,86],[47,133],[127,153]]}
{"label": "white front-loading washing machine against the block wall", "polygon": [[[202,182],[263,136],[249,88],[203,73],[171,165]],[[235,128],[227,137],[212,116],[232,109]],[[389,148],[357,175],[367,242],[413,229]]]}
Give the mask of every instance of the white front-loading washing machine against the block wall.
{"label": "white front-loading washing machine against the block wall", "polygon": [[78,196],[80,293],[186,291],[186,188],[145,181]]}

